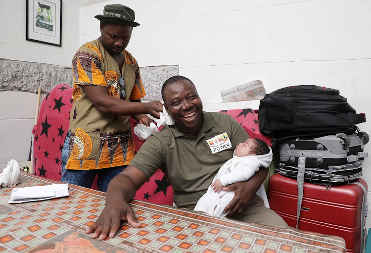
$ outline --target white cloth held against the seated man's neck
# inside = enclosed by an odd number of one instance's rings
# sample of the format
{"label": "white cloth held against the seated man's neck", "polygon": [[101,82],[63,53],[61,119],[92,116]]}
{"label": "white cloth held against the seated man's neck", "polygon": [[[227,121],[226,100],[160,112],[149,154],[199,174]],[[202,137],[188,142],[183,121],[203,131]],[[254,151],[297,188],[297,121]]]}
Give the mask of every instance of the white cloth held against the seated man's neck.
{"label": "white cloth held against the seated man's neck", "polygon": [[163,106],[163,111],[160,112],[159,119],[153,118],[150,115],[148,116],[156,122],[157,126],[153,122],[149,126],[137,124],[137,126],[134,127],[133,132],[141,141],[147,140],[149,137],[151,137],[151,135],[158,133],[158,127],[165,124],[171,126],[175,123],[168,112],[165,110],[165,106]]}

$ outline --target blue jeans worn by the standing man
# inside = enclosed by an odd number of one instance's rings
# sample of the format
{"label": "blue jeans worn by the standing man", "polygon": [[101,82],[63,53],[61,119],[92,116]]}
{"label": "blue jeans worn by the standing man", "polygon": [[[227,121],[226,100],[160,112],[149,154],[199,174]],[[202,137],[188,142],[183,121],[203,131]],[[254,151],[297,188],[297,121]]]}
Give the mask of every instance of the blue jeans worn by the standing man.
{"label": "blue jeans worn by the standing man", "polygon": [[128,165],[104,168],[104,169],[92,169],[92,170],[77,170],[77,169],[66,169],[68,151],[70,147],[70,133],[66,135],[64,140],[64,147],[61,154],[62,160],[62,178],[60,179],[63,183],[79,185],[86,188],[92,188],[93,181],[98,175],[98,189],[101,192],[107,192],[109,182],[123,171]]}

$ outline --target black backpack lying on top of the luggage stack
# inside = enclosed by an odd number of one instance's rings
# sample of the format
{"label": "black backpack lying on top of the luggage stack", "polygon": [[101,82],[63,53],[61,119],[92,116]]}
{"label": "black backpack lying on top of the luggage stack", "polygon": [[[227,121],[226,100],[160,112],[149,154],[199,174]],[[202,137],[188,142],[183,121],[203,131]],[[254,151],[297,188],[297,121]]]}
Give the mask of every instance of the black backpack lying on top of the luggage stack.
{"label": "black backpack lying on top of the luggage stack", "polygon": [[272,142],[296,137],[347,135],[356,124],[366,122],[365,113],[356,113],[338,90],[297,85],[267,94],[259,105],[259,130]]}

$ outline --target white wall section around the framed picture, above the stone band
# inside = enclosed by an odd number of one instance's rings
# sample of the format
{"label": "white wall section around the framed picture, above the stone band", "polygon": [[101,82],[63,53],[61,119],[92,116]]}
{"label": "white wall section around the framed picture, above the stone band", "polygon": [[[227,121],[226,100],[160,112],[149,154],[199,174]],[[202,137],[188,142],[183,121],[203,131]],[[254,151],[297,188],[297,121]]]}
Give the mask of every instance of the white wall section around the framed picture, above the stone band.
{"label": "white wall section around the framed picture, above the stone band", "polygon": [[26,41],[26,1],[0,0],[0,58],[71,66],[79,48],[79,6],[86,0],[62,1],[62,47]]}

